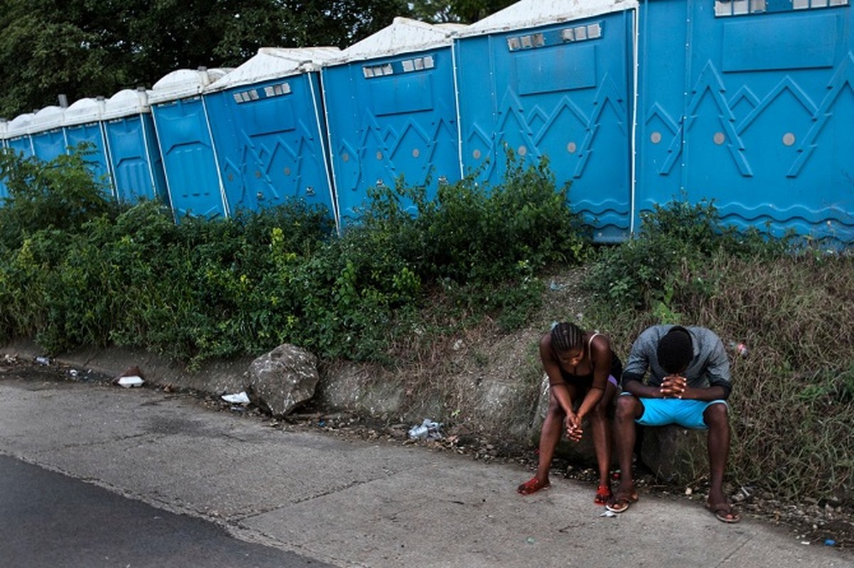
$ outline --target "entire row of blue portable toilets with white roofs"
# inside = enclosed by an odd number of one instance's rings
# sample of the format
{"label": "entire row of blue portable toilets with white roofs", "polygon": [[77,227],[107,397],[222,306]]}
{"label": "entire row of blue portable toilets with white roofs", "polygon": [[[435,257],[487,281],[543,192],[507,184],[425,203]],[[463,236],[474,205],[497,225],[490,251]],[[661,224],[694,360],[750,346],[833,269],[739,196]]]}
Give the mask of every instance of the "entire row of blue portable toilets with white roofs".
{"label": "entire row of blue portable toilets with white roofs", "polygon": [[[53,159],[89,142],[114,197],[227,217],[289,198],[353,223],[367,189],[547,157],[597,241],[674,198],[740,229],[854,241],[849,0],[522,0],[397,18],[347,49],[260,49],[0,123]],[[0,188],[3,190],[3,188]]]}

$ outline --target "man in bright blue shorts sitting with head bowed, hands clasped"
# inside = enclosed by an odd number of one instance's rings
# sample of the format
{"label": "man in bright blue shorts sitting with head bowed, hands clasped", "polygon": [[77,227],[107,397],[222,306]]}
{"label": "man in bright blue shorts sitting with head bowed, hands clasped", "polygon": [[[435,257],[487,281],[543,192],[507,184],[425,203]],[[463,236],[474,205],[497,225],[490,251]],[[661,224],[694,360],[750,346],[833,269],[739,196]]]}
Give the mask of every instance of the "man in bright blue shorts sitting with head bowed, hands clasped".
{"label": "man in bright blue shorts sitting with head bowed, hands clasped", "polygon": [[614,427],[622,478],[608,510],[623,513],[637,501],[632,478],[635,423],[678,424],[708,430],[710,488],[706,507],[724,523],[739,522],[740,516],[723,493],[723,470],[729,454],[726,399],[732,386],[721,339],[705,327],[649,327],[632,345],[622,382]]}

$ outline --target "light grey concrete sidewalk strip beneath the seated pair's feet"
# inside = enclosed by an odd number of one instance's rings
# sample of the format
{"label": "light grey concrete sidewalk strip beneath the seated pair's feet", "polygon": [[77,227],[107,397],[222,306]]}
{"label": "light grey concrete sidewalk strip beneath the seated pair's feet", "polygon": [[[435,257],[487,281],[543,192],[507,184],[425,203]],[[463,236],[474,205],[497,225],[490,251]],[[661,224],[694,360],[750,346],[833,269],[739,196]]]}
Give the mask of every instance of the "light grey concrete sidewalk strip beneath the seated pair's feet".
{"label": "light grey concrete sidewalk strip beneath the seated pair's feet", "polygon": [[424,446],[282,430],[195,397],[0,375],[0,454],[235,536],[340,566],[854,566],[791,530],[718,522],[702,501],[641,495],[604,517],[594,488]]}

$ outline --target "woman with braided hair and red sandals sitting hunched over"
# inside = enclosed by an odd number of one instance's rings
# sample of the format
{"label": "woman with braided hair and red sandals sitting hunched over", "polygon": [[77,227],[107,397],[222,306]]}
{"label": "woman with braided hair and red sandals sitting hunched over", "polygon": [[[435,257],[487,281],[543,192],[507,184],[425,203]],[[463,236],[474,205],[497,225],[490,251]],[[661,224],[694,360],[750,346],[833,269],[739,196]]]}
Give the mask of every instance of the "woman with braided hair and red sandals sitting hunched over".
{"label": "woman with braided hair and red sandals sitting hunched over", "polygon": [[548,375],[549,403],[540,435],[540,462],[536,475],[518,486],[522,495],[546,489],[564,426],[567,438],[582,439],[582,420],[590,418],[599,489],[594,502],[605,505],[611,499],[611,426],[606,409],[617,393],[623,365],[611,351],[611,342],[601,333],[584,332],[574,323],[553,325],[540,339],[540,359]]}

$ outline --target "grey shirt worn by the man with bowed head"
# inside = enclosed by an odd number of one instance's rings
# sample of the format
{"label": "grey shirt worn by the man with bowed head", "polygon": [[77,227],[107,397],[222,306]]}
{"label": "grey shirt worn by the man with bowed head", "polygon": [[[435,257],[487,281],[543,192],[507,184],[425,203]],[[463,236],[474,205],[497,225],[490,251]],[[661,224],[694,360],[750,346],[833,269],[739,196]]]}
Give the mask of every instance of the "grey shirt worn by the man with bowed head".
{"label": "grey shirt worn by the man with bowed head", "polygon": [[[644,375],[649,372],[647,383],[650,386],[659,386],[664,377],[668,375],[664,368],[658,364],[658,339],[670,331],[672,325],[652,326],[640,333],[632,345],[629,360],[623,368],[623,390],[629,380],[643,382]],[[717,334],[705,327],[686,327],[691,334],[693,345],[693,359],[682,375],[687,379],[688,386],[694,388],[708,388],[710,386],[722,386],[725,391],[724,398],[729,396],[732,384],[729,376],[729,358],[727,351],[723,349],[723,342]]]}

